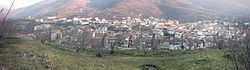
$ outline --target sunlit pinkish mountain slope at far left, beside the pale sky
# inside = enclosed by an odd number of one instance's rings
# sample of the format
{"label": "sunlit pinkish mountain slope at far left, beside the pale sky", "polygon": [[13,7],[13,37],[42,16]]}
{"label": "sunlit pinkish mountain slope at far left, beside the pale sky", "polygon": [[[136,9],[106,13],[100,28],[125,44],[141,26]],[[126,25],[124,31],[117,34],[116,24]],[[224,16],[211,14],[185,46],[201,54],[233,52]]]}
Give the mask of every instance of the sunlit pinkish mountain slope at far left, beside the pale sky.
{"label": "sunlit pinkish mountain slope at far left, beside the pale sky", "polygon": [[[22,8],[15,12],[18,17],[27,16],[72,16],[80,12],[81,8],[84,11],[90,10],[86,7],[87,0],[45,0],[32,6]],[[59,15],[60,14],[60,15]]]}

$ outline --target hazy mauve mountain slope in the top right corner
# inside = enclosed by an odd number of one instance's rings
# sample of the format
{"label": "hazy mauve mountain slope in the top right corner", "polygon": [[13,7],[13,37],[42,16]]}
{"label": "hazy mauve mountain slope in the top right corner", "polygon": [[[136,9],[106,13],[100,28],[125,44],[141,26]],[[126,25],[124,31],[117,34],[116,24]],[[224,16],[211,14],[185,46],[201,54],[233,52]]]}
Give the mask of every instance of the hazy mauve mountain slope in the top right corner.
{"label": "hazy mauve mountain slope in the top right corner", "polygon": [[249,15],[250,0],[189,0],[195,5],[217,13],[225,13],[231,15]]}

